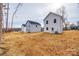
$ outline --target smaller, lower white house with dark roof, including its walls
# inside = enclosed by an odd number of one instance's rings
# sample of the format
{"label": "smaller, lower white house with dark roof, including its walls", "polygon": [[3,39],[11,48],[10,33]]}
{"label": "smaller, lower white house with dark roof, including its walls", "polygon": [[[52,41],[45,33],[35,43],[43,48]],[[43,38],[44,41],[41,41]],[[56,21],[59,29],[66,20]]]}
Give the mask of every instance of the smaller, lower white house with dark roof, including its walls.
{"label": "smaller, lower white house with dark roof, including its walls", "polygon": [[41,25],[38,22],[28,20],[21,26],[23,32],[41,32]]}

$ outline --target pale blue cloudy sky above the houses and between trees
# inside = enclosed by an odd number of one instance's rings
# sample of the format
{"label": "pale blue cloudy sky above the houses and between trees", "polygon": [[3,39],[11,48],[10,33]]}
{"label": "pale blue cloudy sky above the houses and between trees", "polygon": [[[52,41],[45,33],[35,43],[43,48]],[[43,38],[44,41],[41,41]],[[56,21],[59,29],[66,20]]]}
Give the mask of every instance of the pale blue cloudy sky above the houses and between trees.
{"label": "pale blue cloudy sky above the houses and between trees", "polygon": [[[60,6],[59,6],[60,5]],[[23,3],[18,8],[14,16],[13,27],[21,27],[21,24],[26,23],[27,20],[33,20],[41,23],[43,26],[43,19],[49,12],[55,12],[57,8],[64,4],[57,3]],[[12,14],[15,11],[17,3],[10,3],[9,9],[9,27],[12,20]],[[74,3],[65,4],[68,21],[76,22],[79,20],[79,6]],[[5,20],[5,19],[4,19]],[[5,24],[4,24],[5,25]]]}

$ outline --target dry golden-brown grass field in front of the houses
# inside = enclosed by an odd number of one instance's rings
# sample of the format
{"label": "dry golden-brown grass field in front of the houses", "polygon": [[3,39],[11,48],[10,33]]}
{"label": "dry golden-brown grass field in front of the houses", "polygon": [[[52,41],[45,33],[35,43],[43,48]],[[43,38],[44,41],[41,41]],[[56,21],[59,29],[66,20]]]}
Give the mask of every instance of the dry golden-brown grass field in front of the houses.
{"label": "dry golden-brown grass field in front of the houses", "polygon": [[79,55],[79,31],[50,33],[4,33],[0,47],[7,49],[3,55],[54,56]]}

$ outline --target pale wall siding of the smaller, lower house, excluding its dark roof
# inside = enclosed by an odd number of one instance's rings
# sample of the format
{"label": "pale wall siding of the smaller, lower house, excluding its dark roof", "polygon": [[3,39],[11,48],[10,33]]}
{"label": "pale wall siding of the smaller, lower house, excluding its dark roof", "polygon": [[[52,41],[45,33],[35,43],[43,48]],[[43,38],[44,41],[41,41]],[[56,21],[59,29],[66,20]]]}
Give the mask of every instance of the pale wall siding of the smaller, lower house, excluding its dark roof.
{"label": "pale wall siding of the smaller, lower house, excluding its dark roof", "polygon": [[25,27],[22,26],[22,31],[23,32],[41,32],[41,25],[31,24],[30,22],[27,22]]}

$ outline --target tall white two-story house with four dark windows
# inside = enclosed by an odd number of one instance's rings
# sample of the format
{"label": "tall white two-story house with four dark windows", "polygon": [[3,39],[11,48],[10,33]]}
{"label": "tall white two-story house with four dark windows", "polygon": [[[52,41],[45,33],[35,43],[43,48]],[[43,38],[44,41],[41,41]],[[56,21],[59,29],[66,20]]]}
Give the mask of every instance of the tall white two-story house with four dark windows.
{"label": "tall white two-story house with four dark windows", "polygon": [[49,33],[63,32],[62,16],[50,12],[43,21],[44,21],[44,32],[49,32]]}

